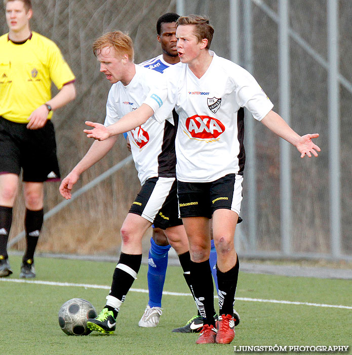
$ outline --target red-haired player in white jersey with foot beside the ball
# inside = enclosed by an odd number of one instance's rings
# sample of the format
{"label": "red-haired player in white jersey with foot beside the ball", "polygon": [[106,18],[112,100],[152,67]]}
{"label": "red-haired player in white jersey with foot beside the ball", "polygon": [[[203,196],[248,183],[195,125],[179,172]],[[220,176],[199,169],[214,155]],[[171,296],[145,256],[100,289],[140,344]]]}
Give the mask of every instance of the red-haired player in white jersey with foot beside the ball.
{"label": "red-haired player in white jersey with foot beside the ball", "polygon": [[[133,44],[121,31],[108,32],[93,44],[100,71],[112,84],[106,103],[105,126],[118,122],[127,113],[138,109],[151,86],[162,74],[133,62]],[[141,190],[121,228],[120,260],[113,273],[111,290],[101,313],[89,319],[90,329],[111,334],[116,316],[132,286],[142,260],[142,237],[153,224],[164,230],[169,243],[179,256],[188,253],[188,241],[178,218],[174,120],[166,112],[162,123],[150,119],[128,132],[131,151]],[[71,197],[71,189],[80,175],[99,161],[113,146],[117,136],[94,141],[87,154],[63,179],[60,192]],[[182,257],[180,262],[182,265]],[[189,265],[188,255],[188,265]]]}

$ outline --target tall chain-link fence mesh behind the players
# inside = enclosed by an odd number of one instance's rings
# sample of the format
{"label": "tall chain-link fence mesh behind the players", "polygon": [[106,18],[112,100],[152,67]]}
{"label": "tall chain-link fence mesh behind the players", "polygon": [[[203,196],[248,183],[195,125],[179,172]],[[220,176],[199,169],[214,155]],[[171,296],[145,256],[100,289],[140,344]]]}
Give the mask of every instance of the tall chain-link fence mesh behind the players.
{"label": "tall chain-link fence mesh behind the players", "polygon": [[[184,13],[206,14],[215,28],[211,49],[218,55],[231,58],[231,0],[185,0]],[[62,174],[65,175],[85,154],[91,141],[82,133],[86,119],[102,122],[109,84],[99,73],[91,46],[97,37],[111,29],[127,31],[135,43],[135,62],[160,54],[156,41],[156,21],[165,12],[176,11],[176,1],[112,1],[32,0],[34,16],[32,30],[54,40],[76,75],[77,98],[65,109],[55,113],[58,152]],[[279,30],[275,20],[279,0],[238,0],[239,64],[251,72],[274,103],[280,108]],[[246,15],[251,4],[250,17]],[[300,134],[319,132],[317,144],[322,152],[317,159],[300,159],[292,147],[292,240],[291,253],[331,252],[329,186],[329,122],[328,72],[318,59],[327,60],[327,2],[324,0],[291,0],[289,2],[291,126]],[[339,0],[339,70],[340,75],[352,82],[349,70],[352,62],[352,7],[350,0]],[[3,9],[0,16],[4,18]],[[247,16],[247,17],[246,17]],[[252,53],[246,56],[248,37],[244,28],[250,25]],[[4,22],[3,33],[7,31]],[[296,36],[296,37],[294,37]],[[296,38],[296,40],[295,40]],[[302,40],[307,46],[302,46]],[[307,48],[310,49],[307,50]],[[312,52],[311,52],[312,51]],[[352,112],[351,92],[340,86],[341,125],[341,249],[352,254]],[[246,122],[255,137],[255,185],[248,184],[245,171],[244,201],[242,206],[239,247],[244,252],[275,252],[282,250],[280,205],[280,140],[260,123],[253,127]],[[245,146],[248,139],[245,140]],[[251,149],[248,147],[247,149]],[[101,162],[83,174],[79,187],[116,164],[128,155],[121,138]],[[253,170],[249,170],[253,171]],[[248,173],[248,169],[247,169]],[[252,179],[253,180],[253,179]],[[55,186],[54,186],[55,185]],[[114,253],[119,247],[119,229],[129,205],[139,190],[139,181],[132,164],[111,175],[92,191],[48,219],[38,251],[72,253]],[[248,195],[255,190],[256,229],[253,237],[251,219],[253,206]],[[62,198],[58,185],[47,184],[45,209],[49,210]],[[22,230],[22,212],[17,208],[12,236]],[[251,237],[252,235],[252,237]],[[16,247],[23,248],[18,243]]]}

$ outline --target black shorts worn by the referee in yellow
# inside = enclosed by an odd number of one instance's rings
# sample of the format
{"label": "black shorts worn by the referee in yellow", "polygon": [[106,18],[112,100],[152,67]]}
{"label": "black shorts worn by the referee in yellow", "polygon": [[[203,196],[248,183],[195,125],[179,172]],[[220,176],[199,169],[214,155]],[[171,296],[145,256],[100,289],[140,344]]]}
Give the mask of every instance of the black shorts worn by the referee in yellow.
{"label": "black shorts worn by the referee in yellow", "polygon": [[26,126],[0,116],[0,173],[19,175],[22,168],[24,182],[60,180],[53,123],[48,120],[39,129]]}

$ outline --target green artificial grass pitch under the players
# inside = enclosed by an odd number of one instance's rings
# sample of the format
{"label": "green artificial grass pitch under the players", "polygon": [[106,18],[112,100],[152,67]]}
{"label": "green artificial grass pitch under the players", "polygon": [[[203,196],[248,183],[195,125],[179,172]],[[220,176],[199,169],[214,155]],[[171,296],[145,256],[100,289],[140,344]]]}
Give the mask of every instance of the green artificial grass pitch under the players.
{"label": "green artificial grass pitch under the players", "polygon": [[[147,294],[130,291],[117,319],[115,334],[93,332],[75,337],[64,334],[57,313],[68,299],[89,300],[100,312],[111,283],[114,263],[35,259],[35,282],[18,279],[20,257],[11,256],[14,274],[0,279],[0,354],[231,354],[233,345],[352,345],[352,309],[321,304],[352,306],[352,281],[285,277],[240,272],[235,308],[241,315],[236,337],[230,345],[196,345],[197,334],[171,333],[195,314],[189,296],[164,295],[163,315],[157,328],[138,327]],[[84,283],[106,288],[59,286]],[[146,266],[142,265],[133,289],[147,289]],[[189,293],[180,267],[169,267],[164,291]],[[279,300],[306,304],[259,302]],[[217,300],[215,300],[217,303]],[[216,306],[215,309],[218,307]],[[322,352],[320,352],[322,353]]]}

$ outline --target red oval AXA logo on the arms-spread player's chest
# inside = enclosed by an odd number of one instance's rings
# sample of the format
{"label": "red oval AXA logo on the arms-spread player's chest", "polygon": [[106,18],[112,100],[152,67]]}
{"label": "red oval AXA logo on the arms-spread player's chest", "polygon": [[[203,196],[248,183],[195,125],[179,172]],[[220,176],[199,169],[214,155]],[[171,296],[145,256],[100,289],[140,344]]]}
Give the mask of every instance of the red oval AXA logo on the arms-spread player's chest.
{"label": "red oval AXA logo on the arms-spread player's chest", "polygon": [[217,138],[225,126],[216,118],[194,115],[186,119],[186,128],[193,138]]}

